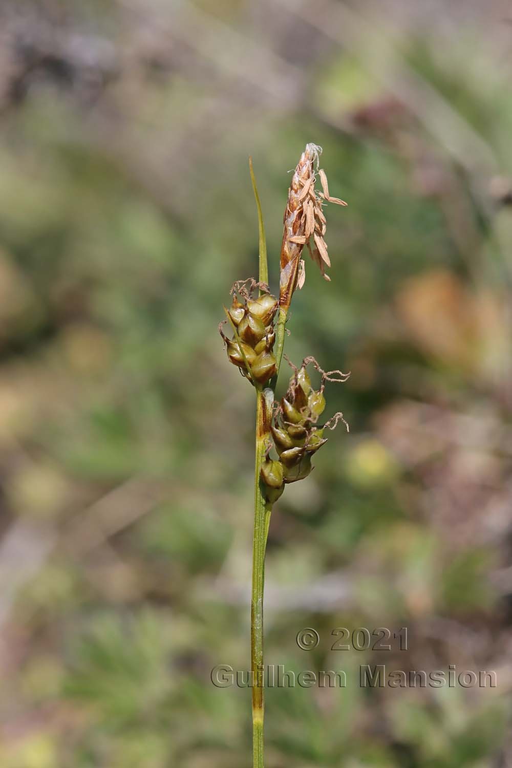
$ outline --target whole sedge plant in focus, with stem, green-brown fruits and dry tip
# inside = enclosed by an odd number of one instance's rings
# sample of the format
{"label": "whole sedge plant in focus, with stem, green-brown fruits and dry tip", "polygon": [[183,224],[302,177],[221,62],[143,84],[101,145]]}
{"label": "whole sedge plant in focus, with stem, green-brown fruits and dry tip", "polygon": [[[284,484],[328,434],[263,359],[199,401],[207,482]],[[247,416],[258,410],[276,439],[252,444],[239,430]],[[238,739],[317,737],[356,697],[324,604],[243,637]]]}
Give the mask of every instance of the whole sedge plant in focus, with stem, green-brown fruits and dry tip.
{"label": "whole sedge plant in focus, with stem, green-brown fruits and dry tip", "polygon": [[[231,289],[232,302],[224,307],[226,319],[220,334],[227,356],[248,379],[256,392],[256,462],[254,475],[253,581],[251,597],[251,672],[253,697],[253,768],[263,768],[263,585],[266,540],[273,505],[287,484],[306,478],[312,456],[325,445],[325,429],[334,429],[338,412],[327,422],[319,419],[325,409],[325,382],[343,382],[348,374],[322,370],[314,357],[299,367],[292,362],[292,376],[285,394],[276,401],[276,382],[283,356],[286,320],[293,293],[302,289],[306,268],[304,247],[319,266],[325,280],[330,266],[325,244],[325,214],[328,203],[346,205],[331,197],[325,171],[319,169],[322,150],[307,144],[289,187],[280,253],[279,298],[270,293],[266,237],[253,163],[249,170],[259,222],[258,280],[238,280]],[[321,189],[316,188],[319,181]],[[228,337],[223,326],[231,328]],[[286,356],[285,356],[286,357]],[[309,376],[312,366],[320,376],[315,389]]]}

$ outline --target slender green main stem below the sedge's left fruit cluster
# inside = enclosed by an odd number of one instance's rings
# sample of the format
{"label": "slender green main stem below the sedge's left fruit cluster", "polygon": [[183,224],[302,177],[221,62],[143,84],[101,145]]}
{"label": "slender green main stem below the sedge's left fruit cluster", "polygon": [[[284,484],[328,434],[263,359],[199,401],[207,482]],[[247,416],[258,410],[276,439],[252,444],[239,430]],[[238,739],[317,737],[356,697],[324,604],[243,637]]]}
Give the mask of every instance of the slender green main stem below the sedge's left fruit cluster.
{"label": "slender green main stem below the sedge's left fruit cluster", "polygon": [[272,505],[265,501],[259,479],[274,392],[256,389],[256,462],[254,472],[253,588],[251,599],[251,672],[253,681],[253,768],[263,768],[263,586],[265,548]]}

